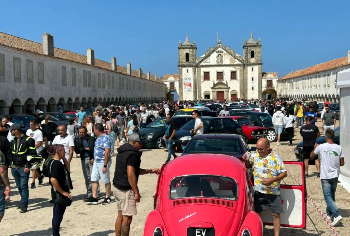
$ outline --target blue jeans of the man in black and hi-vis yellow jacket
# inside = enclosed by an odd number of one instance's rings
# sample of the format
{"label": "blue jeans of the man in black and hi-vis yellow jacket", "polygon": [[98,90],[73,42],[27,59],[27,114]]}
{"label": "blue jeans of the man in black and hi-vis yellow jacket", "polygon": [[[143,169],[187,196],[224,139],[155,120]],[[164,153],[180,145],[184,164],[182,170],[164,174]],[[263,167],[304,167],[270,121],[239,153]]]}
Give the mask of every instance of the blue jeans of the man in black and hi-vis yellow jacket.
{"label": "blue jeans of the man in black and hi-vis yellow jacket", "polygon": [[16,186],[18,188],[19,195],[21,196],[21,204],[27,206],[29,191],[28,191],[28,179],[29,172],[24,173],[24,167],[21,168],[11,168],[12,176],[15,178]]}

